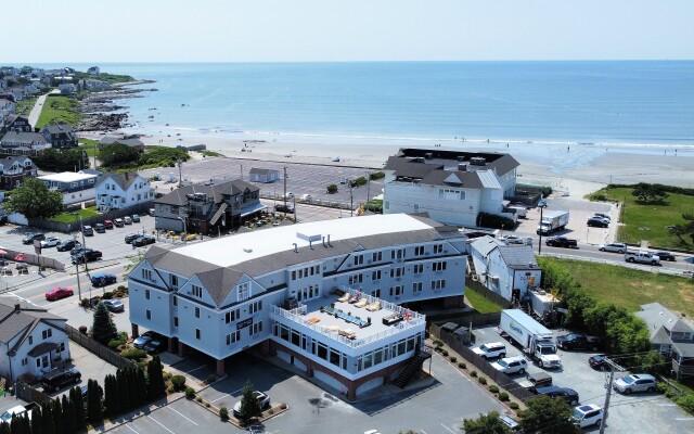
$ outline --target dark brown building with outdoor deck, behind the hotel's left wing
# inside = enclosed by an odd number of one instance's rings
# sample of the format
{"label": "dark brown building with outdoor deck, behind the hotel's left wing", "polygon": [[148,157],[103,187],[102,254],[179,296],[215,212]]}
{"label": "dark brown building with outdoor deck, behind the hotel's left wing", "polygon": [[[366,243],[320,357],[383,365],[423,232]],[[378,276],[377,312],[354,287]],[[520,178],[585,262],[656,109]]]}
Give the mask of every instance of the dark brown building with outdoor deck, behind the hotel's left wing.
{"label": "dark brown building with outdoor deck, behind the hotel's left wing", "polygon": [[240,226],[267,207],[260,203],[260,189],[241,181],[206,182],[181,187],[154,200],[155,228],[217,232]]}

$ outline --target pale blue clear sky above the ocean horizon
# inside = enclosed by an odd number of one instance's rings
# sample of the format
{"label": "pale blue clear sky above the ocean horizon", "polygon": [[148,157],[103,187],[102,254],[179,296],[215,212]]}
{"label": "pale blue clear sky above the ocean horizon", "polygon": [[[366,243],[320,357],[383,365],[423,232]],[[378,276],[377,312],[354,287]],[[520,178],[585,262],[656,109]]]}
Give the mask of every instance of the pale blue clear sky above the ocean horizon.
{"label": "pale blue clear sky above the ocean horizon", "polygon": [[694,0],[36,0],[10,11],[0,64],[694,59]]}

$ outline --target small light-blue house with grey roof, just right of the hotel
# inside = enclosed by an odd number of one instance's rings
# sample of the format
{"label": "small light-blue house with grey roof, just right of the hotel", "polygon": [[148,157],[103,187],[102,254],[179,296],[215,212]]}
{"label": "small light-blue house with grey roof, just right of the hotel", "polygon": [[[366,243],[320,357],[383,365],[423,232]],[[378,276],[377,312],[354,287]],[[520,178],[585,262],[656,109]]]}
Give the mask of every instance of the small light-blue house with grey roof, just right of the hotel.
{"label": "small light-blue house with grey roof, just right of the hotel", "polygon": [[510,302],[527,299],[542,281],[542,269],[529,245],[506,245],[485,235],[472,241],[468,252],[473,280]]}

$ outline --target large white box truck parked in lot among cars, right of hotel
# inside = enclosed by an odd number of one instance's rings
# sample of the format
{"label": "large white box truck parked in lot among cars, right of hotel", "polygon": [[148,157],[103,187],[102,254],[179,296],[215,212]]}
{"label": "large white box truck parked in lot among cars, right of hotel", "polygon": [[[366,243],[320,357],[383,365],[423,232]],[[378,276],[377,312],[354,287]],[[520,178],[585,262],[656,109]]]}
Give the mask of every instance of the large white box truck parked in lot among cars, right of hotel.
{"label": "large white box truck parked in lot among cars, right of hotel", "polygon": [[552,332],[520,309],[504,309],[499,328],[517,342],[541,368],[560,368]]}

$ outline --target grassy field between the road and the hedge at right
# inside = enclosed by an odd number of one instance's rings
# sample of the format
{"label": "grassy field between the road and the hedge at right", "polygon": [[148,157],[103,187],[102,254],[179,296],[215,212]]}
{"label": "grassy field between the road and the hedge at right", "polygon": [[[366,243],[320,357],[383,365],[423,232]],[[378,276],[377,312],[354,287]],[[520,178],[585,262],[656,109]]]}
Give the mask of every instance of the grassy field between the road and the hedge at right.
{"label": "grassy field between the road and the hedge at right", "polygon": [[564,265],[587,294],[630,311],[640,310],[643,304],[657,302],[672,311],[694,316],[694,280],[691,278],[551,257],[541,257],[538,263],[540,266],[545,263]]}

